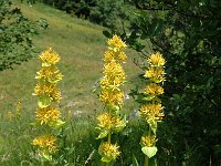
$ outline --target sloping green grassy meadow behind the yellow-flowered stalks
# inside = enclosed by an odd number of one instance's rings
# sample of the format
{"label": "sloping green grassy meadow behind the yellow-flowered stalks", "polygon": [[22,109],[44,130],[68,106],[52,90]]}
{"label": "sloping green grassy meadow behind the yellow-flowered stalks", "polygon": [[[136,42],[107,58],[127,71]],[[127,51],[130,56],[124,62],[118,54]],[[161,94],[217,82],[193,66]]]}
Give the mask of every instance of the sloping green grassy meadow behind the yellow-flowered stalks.
{"label": "sloping green grassy meadow behind the yellow-flowered stalks", "polygon": [[[14,6],[21,8],[24,15],[32,21],[40,18],[49,21],[50,28],[41,30],[33,41],[38,52],[52,46],[61,55],[59,69],[64,77],[59,85],[63,96],[60,107],[63,116],[69,110],[72,112],[72,118],[66,123],[67,143],[70,146],[73,144],[73,147],[75,145],[84,147],[73,151],[72,155],[76,155],[72,156],[71,160],[84,163],[93,149],[93,145],[90,144],[95,137],[93,122],[102,111],[102,104],[92,93],[92,89],[102,76],[102,59],[106,49],[106,39],[102,34],[104,28],[40,3],[29,7],[15,1]],[[30,123],[34,121],[36,107],[36,97],[32,96],[32,93],[36,83],[35,72],[39,69],[40,62],[34,58],[14,66],[14,70],[0,72],[0,165],[2,166],[38,165],[36,156],[33,155],[30,145],[36,135],[36,128]],[[125,64],[125,71],[129,81],[140,72],[130,61]],[[129,89],[126,89],[126,93],[128,92]],[[21,120],[9,121],[8,112],[12,112],[15,116],[18,101],[22,103]],[[127,103],[131,103],[130,100]],[[133,110],[133,104],[125,110],[127,112]],[[86,139],[88,133],[91,138]],[[90,147],[85,148],[87,143]]]}

